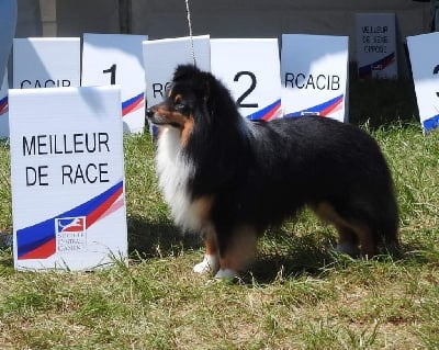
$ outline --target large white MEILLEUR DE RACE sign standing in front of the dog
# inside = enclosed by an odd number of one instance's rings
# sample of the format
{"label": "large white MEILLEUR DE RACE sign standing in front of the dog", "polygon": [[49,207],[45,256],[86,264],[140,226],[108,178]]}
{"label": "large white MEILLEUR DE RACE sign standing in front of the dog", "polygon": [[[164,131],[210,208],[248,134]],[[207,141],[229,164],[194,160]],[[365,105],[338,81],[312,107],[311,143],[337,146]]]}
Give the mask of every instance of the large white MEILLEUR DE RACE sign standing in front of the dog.
{"label": "large white MEILLEUR DE RACE sign standing in front of the dog", "polygon": [[15,268],[125,260],[120,88],[13,89],[9,104]]}

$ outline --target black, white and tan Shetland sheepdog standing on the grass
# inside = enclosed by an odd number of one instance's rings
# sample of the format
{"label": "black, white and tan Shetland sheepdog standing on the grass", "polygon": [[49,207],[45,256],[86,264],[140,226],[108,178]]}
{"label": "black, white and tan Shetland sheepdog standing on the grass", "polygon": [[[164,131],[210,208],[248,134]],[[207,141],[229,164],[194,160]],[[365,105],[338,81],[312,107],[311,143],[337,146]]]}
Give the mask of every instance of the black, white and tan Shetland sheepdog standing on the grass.
{"label": "black, white and tan Shetland sheepdog standing on the grass", "polygon": [[257,237],[304,206],[336,227],[341,252],[372,257],[398,245],[390,169],[357,126],[322,116],[248,121],[218,79],[191,65],[177,67],[146,114],[159,129],[156,169],[175,223],[204,238],[194,272],[236,276]]}

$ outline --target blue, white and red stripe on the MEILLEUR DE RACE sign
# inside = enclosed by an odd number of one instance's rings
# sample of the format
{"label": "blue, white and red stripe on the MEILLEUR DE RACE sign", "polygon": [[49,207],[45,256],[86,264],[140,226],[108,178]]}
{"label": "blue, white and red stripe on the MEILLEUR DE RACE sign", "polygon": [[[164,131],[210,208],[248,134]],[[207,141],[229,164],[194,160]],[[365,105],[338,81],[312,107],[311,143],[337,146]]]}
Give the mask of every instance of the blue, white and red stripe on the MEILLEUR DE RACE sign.
{"label": "blue, white and red stripe on the MEILLEUR DE RACE sign", "polygon": [[56,252],[55,219],[63,217],[85,217],[85,226],[86,228],[89,228],[99,219],[102,219],[106,215],[122,207],[123,204],[123,181],[120,181],[83,204],[80,204],[44,222],[18,229],[18,259],[46,259]]}

